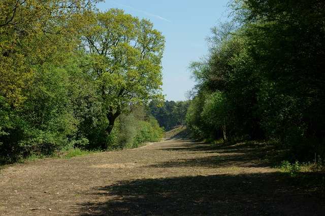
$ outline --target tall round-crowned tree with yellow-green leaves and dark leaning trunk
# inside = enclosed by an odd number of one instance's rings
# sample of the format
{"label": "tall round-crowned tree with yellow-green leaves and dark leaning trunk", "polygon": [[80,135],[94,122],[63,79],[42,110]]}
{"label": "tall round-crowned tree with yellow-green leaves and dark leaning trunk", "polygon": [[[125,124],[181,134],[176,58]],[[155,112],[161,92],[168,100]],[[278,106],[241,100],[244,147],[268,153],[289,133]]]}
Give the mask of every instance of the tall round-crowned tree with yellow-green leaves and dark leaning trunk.
{"label": "tall round-crowned tree with yellow-green leaves and dark leaning trunk", "polygon": [[[84,35],[93,77],[111,133],[115,119],[130,106],[161,100],[164,36],[148,20],[111,9],[96,14]],[[102,146],[107,148],[107,143]]]}

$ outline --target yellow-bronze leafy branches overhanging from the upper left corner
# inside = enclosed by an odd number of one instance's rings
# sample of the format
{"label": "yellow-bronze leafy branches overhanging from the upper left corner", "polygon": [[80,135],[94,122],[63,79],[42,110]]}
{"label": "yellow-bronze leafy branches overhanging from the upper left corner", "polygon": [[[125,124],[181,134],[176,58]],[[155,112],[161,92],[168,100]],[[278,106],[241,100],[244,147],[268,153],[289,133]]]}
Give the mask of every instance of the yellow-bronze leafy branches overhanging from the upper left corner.
{"label": "yellow-bronze leafy branches overhanging from the upper left corner", "polygon": [[[27,97],[33,66],[62,61],[76,46],[76,32],[87,23],[87,0],[3,0],[0,2],[0,95],[12,106]],[[61,52],[64,50],[65,52]]]}

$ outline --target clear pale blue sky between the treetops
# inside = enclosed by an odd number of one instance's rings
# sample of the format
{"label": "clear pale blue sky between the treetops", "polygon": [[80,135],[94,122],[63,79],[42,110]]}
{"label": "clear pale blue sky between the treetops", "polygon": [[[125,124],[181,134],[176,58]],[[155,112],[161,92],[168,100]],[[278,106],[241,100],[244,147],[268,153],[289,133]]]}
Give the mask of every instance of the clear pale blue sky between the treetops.
{"label": "clear pale blue sky between the treetops", "polygon": [[210,29],[228,20],[229,0],[106,0],[97,7],[124,10],[132,16],[150,20],[165,36],[162,59],[163,94],[168,101],[188,100],[194,86],[188,69],[193,61],[208,54],[206,37]]}

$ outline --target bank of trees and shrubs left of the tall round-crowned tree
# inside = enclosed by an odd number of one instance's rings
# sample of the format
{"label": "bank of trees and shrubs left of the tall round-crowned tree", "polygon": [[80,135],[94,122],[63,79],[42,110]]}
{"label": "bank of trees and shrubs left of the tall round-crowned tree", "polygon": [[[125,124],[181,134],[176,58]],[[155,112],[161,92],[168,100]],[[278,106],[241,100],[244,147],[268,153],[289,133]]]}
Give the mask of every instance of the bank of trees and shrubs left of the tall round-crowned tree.
{"label": "bank of trees and shrubs left of the tall round-crowned tree", "polygon": [[51,154],[78,139],[88,105],[78,93],[92,95],[74,82],[89,84],[72,59],[95,2],[0,1],[0,161]]}

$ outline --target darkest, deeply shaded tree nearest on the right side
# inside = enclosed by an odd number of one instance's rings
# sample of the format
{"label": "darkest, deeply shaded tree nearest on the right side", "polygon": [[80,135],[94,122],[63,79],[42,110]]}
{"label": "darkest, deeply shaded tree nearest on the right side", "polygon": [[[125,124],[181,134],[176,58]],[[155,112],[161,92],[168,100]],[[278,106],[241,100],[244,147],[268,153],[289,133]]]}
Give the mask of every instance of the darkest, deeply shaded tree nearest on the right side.
{"label": "darkest, deeply shaded tree nearest on the right side", "polygon": [[324,8],[320,0],[246,0],[236,8],[260,80],[262,125],[293,160],[325,155]]}

